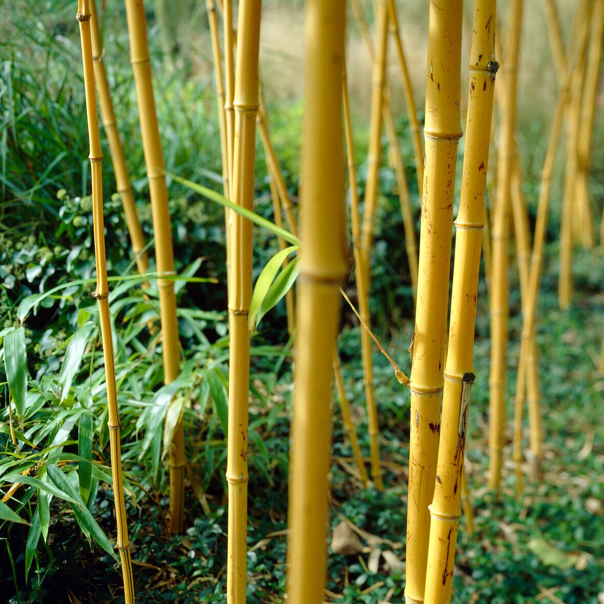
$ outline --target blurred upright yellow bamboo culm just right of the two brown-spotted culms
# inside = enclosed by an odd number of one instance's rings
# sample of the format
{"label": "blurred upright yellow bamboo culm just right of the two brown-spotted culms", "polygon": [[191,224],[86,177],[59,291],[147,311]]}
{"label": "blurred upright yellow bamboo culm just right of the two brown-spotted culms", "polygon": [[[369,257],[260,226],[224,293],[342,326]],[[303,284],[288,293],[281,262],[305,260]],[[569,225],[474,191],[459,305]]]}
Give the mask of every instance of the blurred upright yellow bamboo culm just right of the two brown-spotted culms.
{"label": "blurred upright yellow bamboo culm just right of the two brown-spotted culms", "polygon": [[498,490],[503,464],[503,425],[509,323],[509,211],[515,156],[516,82],[522,22],[522,0],[509,5],[508,39],[504,56],[501,144],[497,156],[497,197],[492,217],[492,283],[489,298],[491,355],[489,373],[489,488]]}

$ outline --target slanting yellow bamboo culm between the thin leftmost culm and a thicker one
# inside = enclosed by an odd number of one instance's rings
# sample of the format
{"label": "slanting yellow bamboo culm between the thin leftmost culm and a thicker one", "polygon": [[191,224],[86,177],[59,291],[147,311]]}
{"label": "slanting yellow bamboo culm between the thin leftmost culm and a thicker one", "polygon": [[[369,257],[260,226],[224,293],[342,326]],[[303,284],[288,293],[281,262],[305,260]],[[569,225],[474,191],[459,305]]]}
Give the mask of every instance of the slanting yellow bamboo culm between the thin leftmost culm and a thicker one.
{"label": "slanting yellow bamboo culm between the thin leftmost culm and a thicker one", "polygon": [[121,205],[124,208],[126,217],[126,226],[132,242],[132,252],[137,262],[137,269],[141,275],[149,271],[149,258],[145,251],[145,238],[143,228],[137,214],[137,205],[134,201],[130,176],[126,167],[126,156],[120,140],[120,133],[117,130],[115,113],[109,91],[109,81],[107,72],[103,63],[103,47],[101,45],[101,36],[98,30],[97,9],[94,0],[89,0],[91,12],[91,40],[92,40],[92,60],[94,61],[94,80],[97,85],[98,104],[103,117],[103,128],[107,135],[109,143],[109,153],[113,162],[115,172],[115,184],[117,192],[120,194]]}

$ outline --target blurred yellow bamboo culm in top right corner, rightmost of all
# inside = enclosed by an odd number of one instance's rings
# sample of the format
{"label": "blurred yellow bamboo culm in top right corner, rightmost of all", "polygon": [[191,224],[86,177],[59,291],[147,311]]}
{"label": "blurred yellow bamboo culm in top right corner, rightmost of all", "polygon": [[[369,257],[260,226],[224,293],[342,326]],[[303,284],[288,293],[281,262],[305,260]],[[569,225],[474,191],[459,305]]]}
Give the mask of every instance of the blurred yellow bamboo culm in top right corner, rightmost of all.
{"label": "blurred yellow bamboo culm in top right corner, rightmost of all", "polygon": [[585,66],[585,85],[581,100],[581,117],[577,138],[577,172],[575,199],[579,218],[580,240],[585,248],[594,246],[591,199],[588,187],[591,165],[591,135],[596,113],[602,38],[604,37],[604,0],[596,0],[591,18],[591,34]]}

